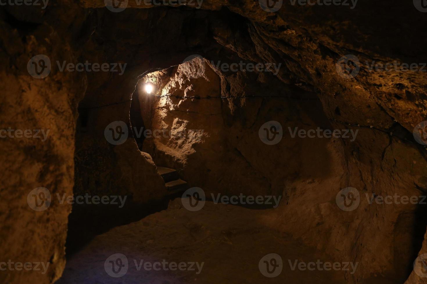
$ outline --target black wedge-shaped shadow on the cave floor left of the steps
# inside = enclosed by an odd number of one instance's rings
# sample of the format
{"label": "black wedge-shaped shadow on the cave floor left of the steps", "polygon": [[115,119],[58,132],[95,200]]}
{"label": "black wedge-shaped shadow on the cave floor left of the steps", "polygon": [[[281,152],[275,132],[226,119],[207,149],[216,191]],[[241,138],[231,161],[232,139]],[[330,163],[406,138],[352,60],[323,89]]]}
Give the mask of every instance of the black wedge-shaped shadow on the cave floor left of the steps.
{"label": "black wedge-shaped shadow on the cave floor left of the steps", "polygon": [[90,243],[96,235],[167,209],[168,202],[169,199],[164,199],[150,205],[142,205],[126,200],[122,208],[112,204],[73,204],[72,212],[68,216],[67,259]]}

